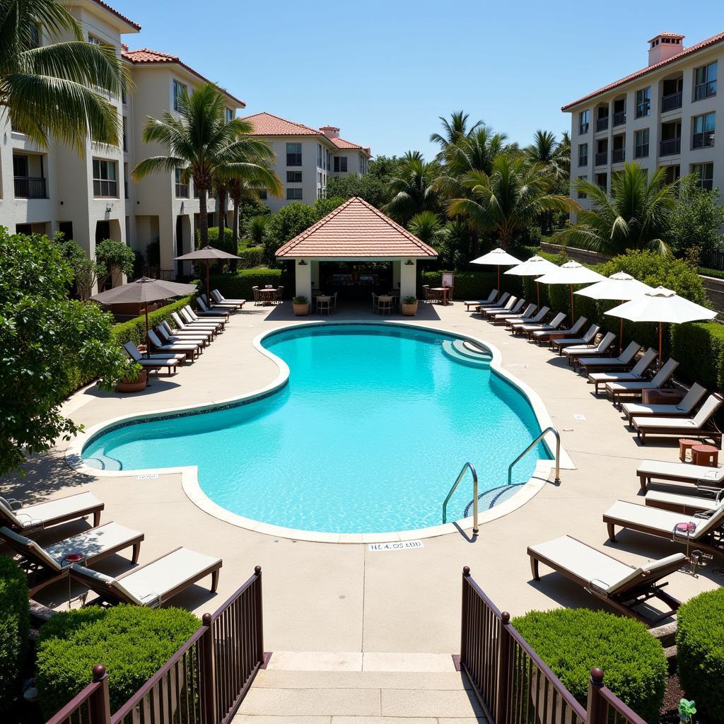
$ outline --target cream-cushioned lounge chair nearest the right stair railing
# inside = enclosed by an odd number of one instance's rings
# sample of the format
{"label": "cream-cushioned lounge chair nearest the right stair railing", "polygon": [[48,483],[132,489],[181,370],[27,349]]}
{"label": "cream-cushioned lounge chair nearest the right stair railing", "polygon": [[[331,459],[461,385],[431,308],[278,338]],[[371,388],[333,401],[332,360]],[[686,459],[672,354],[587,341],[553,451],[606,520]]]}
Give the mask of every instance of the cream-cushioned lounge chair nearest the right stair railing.
{"label": "cream-cushioned lounge chair nearest the right stair railing", "polygon": [[[535,581],[540,580],[539,563],[544,563],[583,586],[586,592],[608,602],[619,613],[637,618],[648,626],[669,618],[681,605],[677,599],[662,591],[666,584],[660,581],[686,563],[683,553],[675,553],[634,568],[576,538],[561,536],[529,546],[528,555]],[[637,606],[645,604],[649,599],[659,599],[669,608],[654,616],[636,610]]]}

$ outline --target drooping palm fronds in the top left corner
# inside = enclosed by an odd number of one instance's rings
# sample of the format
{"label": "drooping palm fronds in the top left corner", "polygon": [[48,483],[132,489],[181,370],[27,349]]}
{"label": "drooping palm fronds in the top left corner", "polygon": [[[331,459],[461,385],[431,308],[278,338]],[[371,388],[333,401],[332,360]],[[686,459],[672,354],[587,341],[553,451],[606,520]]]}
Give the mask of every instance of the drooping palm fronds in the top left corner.
{"label": "drooping palm fronds in the top left corner", "polygon": [[[73,40],[40,46],[43,32]],[[114,47],[85,42],[62,0],[0,0],[0,106],[38,146],[51,136],[81,153],[88,136],[117,146],[118,109],[101,93],[129,85]]]}

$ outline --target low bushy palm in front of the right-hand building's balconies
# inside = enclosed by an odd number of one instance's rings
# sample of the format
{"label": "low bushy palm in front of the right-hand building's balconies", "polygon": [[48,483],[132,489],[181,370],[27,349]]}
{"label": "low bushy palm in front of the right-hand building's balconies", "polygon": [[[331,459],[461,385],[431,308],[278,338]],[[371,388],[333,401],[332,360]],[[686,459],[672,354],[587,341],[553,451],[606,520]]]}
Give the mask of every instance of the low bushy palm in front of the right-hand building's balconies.
{"label": "low bushy palm in front of the right-hand building's balconies", "polygon": [[577,181],[575,190],[592,200],[592,209],[578,212],[577,223],[555,235],[563,244],[615,256],[626,249],[668,253],[663,240],[676,203],[678,182],[666,183],[660,168],[651,180],[639,164],[626,164],[611,174],[611,194],[599,185]]}

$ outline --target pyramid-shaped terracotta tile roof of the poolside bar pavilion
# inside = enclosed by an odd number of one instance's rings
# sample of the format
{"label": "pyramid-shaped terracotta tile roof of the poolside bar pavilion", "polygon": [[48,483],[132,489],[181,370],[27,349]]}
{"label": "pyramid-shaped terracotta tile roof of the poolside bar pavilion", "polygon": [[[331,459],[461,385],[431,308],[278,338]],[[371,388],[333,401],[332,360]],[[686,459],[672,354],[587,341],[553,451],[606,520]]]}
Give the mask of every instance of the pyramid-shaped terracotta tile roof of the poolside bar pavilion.
{"label": "pyramid-shaped terracotta tile roof of the poolside bar pavilion", "polygon": [[437,256],[431,246],[355,196],[277,249],[277,257],[396,258]]}

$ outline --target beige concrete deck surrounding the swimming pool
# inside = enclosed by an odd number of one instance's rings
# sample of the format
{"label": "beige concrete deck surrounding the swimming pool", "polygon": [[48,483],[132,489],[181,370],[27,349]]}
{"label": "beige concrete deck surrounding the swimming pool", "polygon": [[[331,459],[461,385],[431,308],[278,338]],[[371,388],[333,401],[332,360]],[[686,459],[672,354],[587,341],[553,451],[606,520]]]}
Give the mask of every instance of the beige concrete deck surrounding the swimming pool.
{"label": "beige concrete deck surrounding the swimming pool", "polygon": [[[90,387],[67,400],[64,412],[90,427],[119,416],[248,394],[278,374],[274,362],[253,348],[253,339],[269,329],[312,319],[293,317],[289,303],[271,309],[252,306],[232,316],[227,331],[176,376],[154,375],[151,386],[135,395]],[[345,311],[341,305],[331,319],[382,321],[361,308]],[[597,605],[597,599],[544,567],[542,580],[531,582],[528,544],[568,533],[632,564],[680,550],[633,532],[623,532],[616,544],[607,544],[602,523],[602,513],[613,501],[642,502],[635,474],[639,460],[677,460],[675,439],[652,439],[645,447],[637,444],[620,413],[605,399],[594,398],[592,386],[571,371],[565,358],[471,316],[460,302],[447,307],[421,305],[415,318],[393,315],[389,319],[470,334],[496,346],[503,368],[542,398],[576,469],[562,472],[560,486],[545,484],[518,510],[484,523],[474,541],[456,532],[425,539],[422,548],[389,552],[371,552],[367,544],[286,539],[221,521],[188,499],[180,473],[153,479],[138,479],[135,474],[93,479],[67,465],[65,442],[33,456],[25,466],[25,476],[2,479],[3,494],[40,501],[92,491],[106,504],[102,522],[117,521],[146,534],[140,563],[180,545],[223,557],[216,594],[194,586],[174,599],[175,605],[198,614],[214,610],[251,574],[254,565],[261,565],[265,648],[270,651],[455,652],[463,565],[471,567],[473,577],[501,610],[517,615],[531,609]],[[401,452],[405,434],[432,438],[434,424],[413,421],[410,431],[401,431]],[[484,478],[484,461],[473,463]],[[452,480],[440,481],[441,501],[451,484]],[[38,540],[53,542],[85,527],[87,523],[56,526]],[[114,574],[130,564],[127,558],[112,556],[97,567]],[[710,568],[704,568],[698,578],[681,572],[670,576],[668,591],[686,600],[719,585]],[[67,584],[49,586],[38,600],[67,606]]]}

